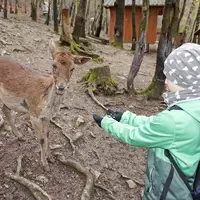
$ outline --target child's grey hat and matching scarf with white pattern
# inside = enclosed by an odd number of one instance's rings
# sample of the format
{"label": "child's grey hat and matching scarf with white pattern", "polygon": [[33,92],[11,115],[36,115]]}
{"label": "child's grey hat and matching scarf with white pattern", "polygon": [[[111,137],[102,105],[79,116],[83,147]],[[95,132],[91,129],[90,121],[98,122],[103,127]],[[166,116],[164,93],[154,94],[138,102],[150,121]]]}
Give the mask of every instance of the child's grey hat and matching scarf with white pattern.
{"label": "child's grey hat and matching scarf with white pattern", "polygon": [[163,72],[168,80],[185,88],[163,94],[168,106],[180,101],[200,99],[200,45],[186,43],[172,51],[165,60]]}

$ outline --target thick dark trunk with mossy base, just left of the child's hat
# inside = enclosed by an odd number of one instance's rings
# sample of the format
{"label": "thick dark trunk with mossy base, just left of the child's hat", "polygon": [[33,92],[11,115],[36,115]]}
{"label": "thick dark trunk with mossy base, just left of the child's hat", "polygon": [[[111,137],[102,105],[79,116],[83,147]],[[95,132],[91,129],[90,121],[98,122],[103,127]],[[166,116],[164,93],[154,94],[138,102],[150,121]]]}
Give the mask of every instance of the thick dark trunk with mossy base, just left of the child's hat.
{"label": "thick dark trunk with mossy base, just left of the child's hat", "polygon": [[165,75],[163,73],[164,61],[172,51],[172,27],[176,18],[176,0],[165,0],[162,29],[157,50],[156,70],[152,83],[146,93],[149,99],[157,99],[161,96],[165,86]]}

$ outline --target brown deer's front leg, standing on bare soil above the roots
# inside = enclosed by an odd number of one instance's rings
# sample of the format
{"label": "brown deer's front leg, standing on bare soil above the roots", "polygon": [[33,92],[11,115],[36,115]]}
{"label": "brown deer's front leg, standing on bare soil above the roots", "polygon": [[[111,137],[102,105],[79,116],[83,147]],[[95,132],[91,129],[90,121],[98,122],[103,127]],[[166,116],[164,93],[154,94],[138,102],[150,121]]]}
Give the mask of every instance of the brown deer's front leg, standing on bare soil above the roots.
{"label": "brown deer's front leg, standing on bare soil above the roots", "polygon": [[41,162],[44,166],[45,170],[49,170],[48,166],[48,126],[49,120],[45,118],[37,118],[30,116],[31,123],[37,134],[37,138],[40,141],[40,149],[41,149]]}

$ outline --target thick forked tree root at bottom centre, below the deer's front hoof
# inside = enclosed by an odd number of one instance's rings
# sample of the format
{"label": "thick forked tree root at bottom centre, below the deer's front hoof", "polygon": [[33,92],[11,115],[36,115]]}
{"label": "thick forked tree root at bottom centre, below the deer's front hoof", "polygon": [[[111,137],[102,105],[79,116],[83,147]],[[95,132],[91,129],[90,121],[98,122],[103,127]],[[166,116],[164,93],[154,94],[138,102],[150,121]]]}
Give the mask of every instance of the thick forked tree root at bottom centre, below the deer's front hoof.
{"label": "thick forked tree root at bottom centre, below the deer's front hoof", "polygon": [[113,196],[112,192],[108,189],[106,189],[104,186],[101,186],[99,184],[96,184],[96,177],[95,175],[92,173],[92,170],[82,166],[80,163],[78,163],[76,160],[74,159],[65,159],[65,157],[60,154],[60,153],[56,153],[55,154],[57,159],[64,165],[73,167],[74,169],[76,169],[78,172],[84,174],[86,176],[86,185],[85,188],[82,192],[81,195],[81,200],[90,200],[91,199],[91,195],[92,195],[92,190],[93,188],[100,188],[104,191],[106,191],[108,193],[108,196],[110,199],[112,200],[116,200],[116,198]]}

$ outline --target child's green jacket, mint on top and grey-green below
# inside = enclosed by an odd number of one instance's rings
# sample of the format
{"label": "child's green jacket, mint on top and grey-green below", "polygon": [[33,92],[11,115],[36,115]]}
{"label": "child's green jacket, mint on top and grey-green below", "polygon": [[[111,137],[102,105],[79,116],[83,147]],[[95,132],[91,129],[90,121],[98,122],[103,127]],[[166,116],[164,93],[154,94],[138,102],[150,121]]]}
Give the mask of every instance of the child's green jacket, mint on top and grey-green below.
{"label": "child's green jacket, mint on top and grey-green below", "polygon": [[[177,104],[183,110],[168,109],[155,116],[137,116],[126,111],[120,122],[105,116],[102,128],[115,138],[137,147],[149,148],[143,200],[158,200],[170,173],[171,163],[164,155],[169,149],[192,186],[200,160],[200,101]],[[192,200],[189,190],[174,172],[166,200]]]}

